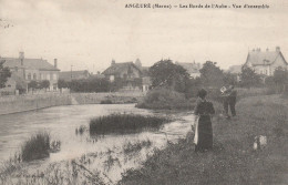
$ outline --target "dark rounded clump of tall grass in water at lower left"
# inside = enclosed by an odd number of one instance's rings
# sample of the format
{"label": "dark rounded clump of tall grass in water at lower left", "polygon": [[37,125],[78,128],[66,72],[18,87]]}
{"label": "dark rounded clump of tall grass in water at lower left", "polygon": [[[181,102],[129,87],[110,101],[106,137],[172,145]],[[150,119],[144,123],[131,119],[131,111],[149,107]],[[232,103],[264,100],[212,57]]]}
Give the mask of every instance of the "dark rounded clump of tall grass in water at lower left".
{"label": "dark rounded clump of tall grass in water at lower left", "polygon": [[49,156],[50,134],[47,132],[32,135],[21,147],[23,162],[40,160]]}

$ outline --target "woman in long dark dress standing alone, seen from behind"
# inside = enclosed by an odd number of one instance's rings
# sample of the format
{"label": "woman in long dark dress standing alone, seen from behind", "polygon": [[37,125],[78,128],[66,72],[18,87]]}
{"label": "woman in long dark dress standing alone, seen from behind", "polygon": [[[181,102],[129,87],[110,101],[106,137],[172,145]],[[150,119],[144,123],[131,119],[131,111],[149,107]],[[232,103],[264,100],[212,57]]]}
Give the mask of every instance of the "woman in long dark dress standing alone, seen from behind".
{"label": "woman in long dark dress standing alone, seen from behind", "polygon": [[215,110],[212,102],[206,100],[207,92],[202,89],[197,96],[198,102],[195,106],[195,137],[194,143],[195,152],[205,152],[213,148],[213,130],[212,130],[212,115]]}

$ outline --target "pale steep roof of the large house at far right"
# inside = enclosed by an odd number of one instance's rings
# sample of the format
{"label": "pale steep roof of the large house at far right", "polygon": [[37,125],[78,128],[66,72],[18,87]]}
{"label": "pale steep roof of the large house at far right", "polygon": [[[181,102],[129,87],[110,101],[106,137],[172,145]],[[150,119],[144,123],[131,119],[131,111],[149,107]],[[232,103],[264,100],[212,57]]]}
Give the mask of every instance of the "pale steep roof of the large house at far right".
{"label": "pale steep roof of the large house at far right", "polygon": [[282,56],[280,51],[250,51],[246,63],[250,62],[253,65],[269,65],[272,64],[278,56]]}

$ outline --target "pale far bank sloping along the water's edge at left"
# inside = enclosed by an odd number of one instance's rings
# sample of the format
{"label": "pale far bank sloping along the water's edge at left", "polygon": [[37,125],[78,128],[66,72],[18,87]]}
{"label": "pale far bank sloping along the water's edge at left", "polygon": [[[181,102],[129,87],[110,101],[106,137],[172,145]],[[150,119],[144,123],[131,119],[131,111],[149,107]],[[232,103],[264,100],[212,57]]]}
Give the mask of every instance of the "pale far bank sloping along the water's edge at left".
{"label": "pale far bank sloping along the water's edge at left", "polygon": [[75,104],[111,104],[136,103],[144,94],[142,92],[131,93],[43,93],[27,95],[0,96],[0,115],[25,111],[34,111],[51,106],[75,105]]}

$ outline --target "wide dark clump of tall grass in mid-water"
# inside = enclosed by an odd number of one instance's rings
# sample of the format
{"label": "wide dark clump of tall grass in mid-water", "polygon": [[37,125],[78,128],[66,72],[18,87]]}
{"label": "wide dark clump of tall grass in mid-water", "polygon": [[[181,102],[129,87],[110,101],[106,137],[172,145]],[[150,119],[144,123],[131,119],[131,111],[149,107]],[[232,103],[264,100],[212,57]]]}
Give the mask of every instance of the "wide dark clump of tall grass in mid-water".
{"label": "wide dark clump of tall grass in mid-water", "polygon": [[145,130],[158,130],[169,120],[167,117],[138,115],[138,114],[112,114],[92,119],[90,121],[90,134],[109,133],[135,133]]}

